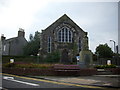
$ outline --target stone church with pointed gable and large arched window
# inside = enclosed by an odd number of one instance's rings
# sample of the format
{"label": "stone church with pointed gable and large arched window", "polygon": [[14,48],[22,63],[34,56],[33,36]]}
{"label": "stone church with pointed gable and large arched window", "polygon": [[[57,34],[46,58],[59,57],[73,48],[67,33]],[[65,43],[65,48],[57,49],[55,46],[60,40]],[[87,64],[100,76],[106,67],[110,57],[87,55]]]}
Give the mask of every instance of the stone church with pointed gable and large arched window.
{"label": "stone church with pointed gable and large arched window", "polygon": [[84,47],[83,37],[87,37],[87,32],[64,14],[42,30],[40,54],[46,56],[48,53],[59,51],[60,62],[72,62]]}

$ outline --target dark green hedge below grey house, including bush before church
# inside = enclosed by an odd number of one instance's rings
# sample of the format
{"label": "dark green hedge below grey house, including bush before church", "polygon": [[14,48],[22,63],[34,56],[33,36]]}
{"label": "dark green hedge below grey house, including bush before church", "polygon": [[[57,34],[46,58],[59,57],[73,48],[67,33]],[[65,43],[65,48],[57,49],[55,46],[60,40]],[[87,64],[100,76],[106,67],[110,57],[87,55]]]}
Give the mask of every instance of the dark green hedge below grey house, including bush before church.
{"label": "dark green hedge below grey house, including bush before church", "polygon": [[58,51],[49,53],[46,58],[43,58],[43,56],[2,56],[2,63],[9,63],[10,59],[24,63],[58,63],[60,61],[60,53]]}

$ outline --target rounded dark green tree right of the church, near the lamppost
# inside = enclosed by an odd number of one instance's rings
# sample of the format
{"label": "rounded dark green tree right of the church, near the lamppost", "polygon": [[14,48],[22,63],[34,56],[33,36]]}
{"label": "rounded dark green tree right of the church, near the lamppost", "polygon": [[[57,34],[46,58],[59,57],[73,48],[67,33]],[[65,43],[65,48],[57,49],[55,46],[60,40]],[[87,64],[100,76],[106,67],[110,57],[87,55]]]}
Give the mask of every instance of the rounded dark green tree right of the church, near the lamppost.
{"label": "rounded dark green tree right of the church, near the lamppost", "polygon": [[113,56],[113,51],[107,44],[100,44],[96,48],[95,54],[99,54],[100,58],[112,58]]}

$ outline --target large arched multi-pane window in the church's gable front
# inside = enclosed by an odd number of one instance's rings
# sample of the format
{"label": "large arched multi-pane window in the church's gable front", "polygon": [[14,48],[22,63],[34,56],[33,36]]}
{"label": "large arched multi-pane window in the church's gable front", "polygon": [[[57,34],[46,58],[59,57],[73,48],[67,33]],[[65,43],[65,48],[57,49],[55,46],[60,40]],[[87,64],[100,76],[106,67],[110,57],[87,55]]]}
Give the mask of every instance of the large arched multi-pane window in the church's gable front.
{"label": "large arched multi-pane window in the church's gable front", "polygon": [[69,28],[63,27],[58,31],[58,42],[72,42],[72,35]]}

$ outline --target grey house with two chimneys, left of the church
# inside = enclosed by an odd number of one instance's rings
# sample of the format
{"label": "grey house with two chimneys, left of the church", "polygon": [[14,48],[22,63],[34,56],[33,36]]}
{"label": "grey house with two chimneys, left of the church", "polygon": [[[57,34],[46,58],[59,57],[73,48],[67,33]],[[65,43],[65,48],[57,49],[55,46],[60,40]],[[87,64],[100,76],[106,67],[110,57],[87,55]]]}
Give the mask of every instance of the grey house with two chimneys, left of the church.
{"label": "grey house with two chimneys, left of the church", "polygon": [[25,32],[19,28],[18,36],[6,39],[4,35],[1,36],[2,40],[2,55],[20,56],[23,55],[23,47],[27,44],[25,39]]}

